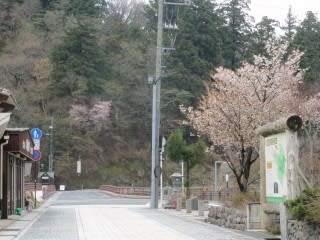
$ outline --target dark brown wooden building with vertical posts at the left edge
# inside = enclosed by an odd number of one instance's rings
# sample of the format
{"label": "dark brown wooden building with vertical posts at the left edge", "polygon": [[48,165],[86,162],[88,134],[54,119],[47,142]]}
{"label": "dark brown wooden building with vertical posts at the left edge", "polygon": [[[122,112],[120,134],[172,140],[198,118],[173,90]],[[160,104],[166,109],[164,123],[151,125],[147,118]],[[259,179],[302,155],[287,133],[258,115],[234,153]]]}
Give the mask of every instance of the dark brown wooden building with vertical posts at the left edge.
{"label": "dark brown wooden building with vertical posts at the left edge", "polygon": [[24,207],[25,165],[33,161],[34,143],[28,128],[7,128],[1,142],[1,218],[7,219]]}

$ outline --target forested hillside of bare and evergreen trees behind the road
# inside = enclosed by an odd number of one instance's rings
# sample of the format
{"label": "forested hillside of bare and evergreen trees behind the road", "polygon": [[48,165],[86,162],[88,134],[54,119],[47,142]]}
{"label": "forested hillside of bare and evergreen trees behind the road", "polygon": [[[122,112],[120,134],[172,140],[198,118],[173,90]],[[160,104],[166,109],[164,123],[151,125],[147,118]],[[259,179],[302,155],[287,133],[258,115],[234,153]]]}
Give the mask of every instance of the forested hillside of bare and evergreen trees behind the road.
{"label": "forested hillside of bare and evergreen trees behind the road", "polygon": [[[179,31],[175,50],[163,56],[161,134],[181,128],[179,106],[197,105],[215,68],[252,62],[253,55],[265,54],[269,38],[304,51],[305,94],[319,90],[316,15],[309,12],[299,22],[288,9],[279,36],[279,23],[267,17],[254,21],[249,8],[246,0],[165,6],[164,21],[176,23]],[[1,0],[0,87],[13,93],[18,106],[10,125],[42,129],[40,170],[47,170],[53,138],[58,184],[78,186],[76,160],[81,158],[85,187],[149,185],[147,78],[155,68],[156,23],[153,1]],[[164,34],[170,47],[170,33]],[[166,176],[172,171],[167,169]]]}

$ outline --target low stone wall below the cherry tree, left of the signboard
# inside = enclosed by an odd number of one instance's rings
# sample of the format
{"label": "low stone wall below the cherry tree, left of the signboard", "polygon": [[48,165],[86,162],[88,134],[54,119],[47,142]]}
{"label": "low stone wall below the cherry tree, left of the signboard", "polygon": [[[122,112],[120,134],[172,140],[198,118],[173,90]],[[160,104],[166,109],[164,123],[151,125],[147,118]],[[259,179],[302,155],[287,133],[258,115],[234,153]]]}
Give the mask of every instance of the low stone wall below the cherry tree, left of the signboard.
{"label": "low stone wall below the cherry tree, left of the signboard", "polygon": [[232,208],[210,206],[208,222],[221,227],[244,231],[247,228],[247,215],[245,212]]}

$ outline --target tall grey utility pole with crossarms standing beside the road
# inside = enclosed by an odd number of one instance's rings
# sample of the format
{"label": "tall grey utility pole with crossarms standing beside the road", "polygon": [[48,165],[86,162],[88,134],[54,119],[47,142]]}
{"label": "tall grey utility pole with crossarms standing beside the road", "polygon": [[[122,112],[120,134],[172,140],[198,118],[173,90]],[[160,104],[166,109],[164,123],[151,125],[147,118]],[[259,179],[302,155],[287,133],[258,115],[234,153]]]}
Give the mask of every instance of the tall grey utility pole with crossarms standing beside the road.
{"label": "tall grey utility pole with crossarms standing beside the road", "polygon": [[[170,3],[159,0],[158,2],[158,24],[157,24],[157,51],[156,51],[156,75],[152,80],[152,164],[151,164],[151,208],[158,208],[158,185],[159,176],[162,172],[156,171],[159,167],[159,132],[160,132],[160,92],[161,92],[161,74],[162,74],[162,52],[164,50],[174,50],[171,48],[162,47],[163,29],[177,30],[176,25],[163,24],[163,5],[190,5],[190,2]],[[171,45],[174,44],[172,41]]]}

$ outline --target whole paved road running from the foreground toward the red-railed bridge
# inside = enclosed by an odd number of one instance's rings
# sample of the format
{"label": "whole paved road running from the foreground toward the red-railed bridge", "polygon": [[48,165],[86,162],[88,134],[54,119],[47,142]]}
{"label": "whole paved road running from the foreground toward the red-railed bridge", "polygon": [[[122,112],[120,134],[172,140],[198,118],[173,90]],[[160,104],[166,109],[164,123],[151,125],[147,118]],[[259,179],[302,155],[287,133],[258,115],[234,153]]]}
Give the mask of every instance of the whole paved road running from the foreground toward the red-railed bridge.
{"label": "whole paved road running from the foreground toward the red-railed bridge", "polygon": [[204,223],[175,210],[149,209],[147,201],[114,198],[99,191],[59,192],[17,239],[259,239]]}

